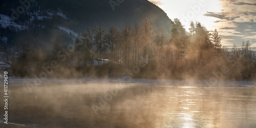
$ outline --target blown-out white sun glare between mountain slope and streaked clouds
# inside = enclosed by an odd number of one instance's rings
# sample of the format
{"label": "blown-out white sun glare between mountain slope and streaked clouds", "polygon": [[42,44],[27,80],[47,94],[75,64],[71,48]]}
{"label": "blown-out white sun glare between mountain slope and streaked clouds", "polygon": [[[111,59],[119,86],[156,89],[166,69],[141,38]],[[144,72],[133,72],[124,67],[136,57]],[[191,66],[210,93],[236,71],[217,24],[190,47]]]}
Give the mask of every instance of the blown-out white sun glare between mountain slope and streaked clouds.
{"label": "blown-out white sun glare between mountain slope and streaked clouds", "polygon": [[219,1],[211,0],[150,0],[163,9],[170,19],[178,18],[188,31],[189,22],[197,20],[209,31],[217,27],[218,18],[205,16],[207,12],[221,12]]}

